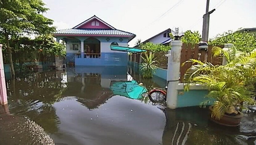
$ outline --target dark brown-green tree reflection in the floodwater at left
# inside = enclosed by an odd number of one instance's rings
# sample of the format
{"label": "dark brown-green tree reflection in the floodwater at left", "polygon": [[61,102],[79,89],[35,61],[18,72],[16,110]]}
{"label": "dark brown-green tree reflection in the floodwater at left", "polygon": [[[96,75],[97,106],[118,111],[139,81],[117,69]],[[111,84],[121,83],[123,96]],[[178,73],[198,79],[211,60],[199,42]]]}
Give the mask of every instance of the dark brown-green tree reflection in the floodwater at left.
{"label": "dark brown-green tree reflection in the floodwater at left", "polygon": [[62,99],[60,72],[32,73],[25,78],[7,81],[10,112],[27,116],[45,131],[54,133],[60,123],[52,104]]}

